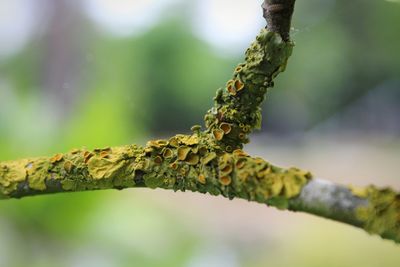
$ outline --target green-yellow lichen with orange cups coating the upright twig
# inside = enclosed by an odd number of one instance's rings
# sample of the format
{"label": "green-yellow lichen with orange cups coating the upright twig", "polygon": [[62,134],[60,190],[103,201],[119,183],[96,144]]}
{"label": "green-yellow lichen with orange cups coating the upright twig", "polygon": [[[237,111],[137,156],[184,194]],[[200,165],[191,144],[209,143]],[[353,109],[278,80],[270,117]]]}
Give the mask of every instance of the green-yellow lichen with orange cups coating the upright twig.
{"label": "green-yellow lichen with orange cups coating the upright twig", "polygon": [[208,133],[225,151],[242,148],[248,134],[261,128],[261,104],[273,79],[286,68],[293,43],[277,33],[261,30],[246,51],[233,77],[220,88],[214,107],[205,116]]}

